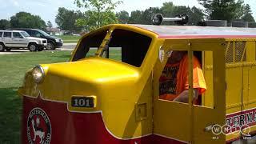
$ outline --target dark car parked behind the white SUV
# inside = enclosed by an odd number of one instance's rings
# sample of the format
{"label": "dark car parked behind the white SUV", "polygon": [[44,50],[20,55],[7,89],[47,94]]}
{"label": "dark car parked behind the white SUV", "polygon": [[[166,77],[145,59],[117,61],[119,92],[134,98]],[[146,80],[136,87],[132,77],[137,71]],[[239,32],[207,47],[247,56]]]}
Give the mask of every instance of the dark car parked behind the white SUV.
{"label": "dark car parked behind the white SUV", "polygon": [[50,34],[47,34],[43,30],[27,29],[27,28],[18,28],[18,29],[15,29],[15,30],[24,30],[28,34],[30,34],[32,37],[46,38],[47,39],[46,50],[55,50],[56,48],[62,47],[62,45],[63,45],[63,41],[62,41],[61,38],[51,36]]}

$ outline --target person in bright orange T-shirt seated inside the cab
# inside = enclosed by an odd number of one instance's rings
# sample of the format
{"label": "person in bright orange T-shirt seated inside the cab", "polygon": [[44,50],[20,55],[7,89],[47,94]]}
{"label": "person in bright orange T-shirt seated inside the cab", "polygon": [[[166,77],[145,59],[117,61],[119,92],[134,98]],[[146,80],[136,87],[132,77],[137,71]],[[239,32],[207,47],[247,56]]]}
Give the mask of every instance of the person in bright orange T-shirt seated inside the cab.
{"label": "person in bright orange T-shirt seated inside the cab", "polygon": [[[160,99],[174,102],[189,101],[189,58],[186,51],[173,51],[159,79]],[[206,82],[198,58],[193,57],[194,104],[206,91]]]}

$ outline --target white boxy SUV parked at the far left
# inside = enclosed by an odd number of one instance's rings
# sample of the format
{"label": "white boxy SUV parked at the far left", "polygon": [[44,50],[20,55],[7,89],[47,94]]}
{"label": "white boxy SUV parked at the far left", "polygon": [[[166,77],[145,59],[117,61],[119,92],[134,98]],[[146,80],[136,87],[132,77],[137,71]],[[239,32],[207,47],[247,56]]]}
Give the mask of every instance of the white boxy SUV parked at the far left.
{"label": "white boxy SUV parked at the far left", "polygon": [[45,38],[30,37],[22,30],[0,30],[0,51],[12,48],[28,48],[30,51],[42,51],[47,46]]}

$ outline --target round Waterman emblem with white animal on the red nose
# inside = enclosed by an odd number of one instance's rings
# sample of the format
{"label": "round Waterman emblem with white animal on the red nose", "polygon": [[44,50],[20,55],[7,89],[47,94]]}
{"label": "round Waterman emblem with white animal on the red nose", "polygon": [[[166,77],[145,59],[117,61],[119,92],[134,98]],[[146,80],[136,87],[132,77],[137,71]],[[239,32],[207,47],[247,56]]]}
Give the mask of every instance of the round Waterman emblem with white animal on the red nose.
{"label": "round Waterman emblem with white animal on the red nose", "polygon": [[30,144],[48,144],[51,138],[50,119],[39,107],[30,111],[26,126],[27,138]]}

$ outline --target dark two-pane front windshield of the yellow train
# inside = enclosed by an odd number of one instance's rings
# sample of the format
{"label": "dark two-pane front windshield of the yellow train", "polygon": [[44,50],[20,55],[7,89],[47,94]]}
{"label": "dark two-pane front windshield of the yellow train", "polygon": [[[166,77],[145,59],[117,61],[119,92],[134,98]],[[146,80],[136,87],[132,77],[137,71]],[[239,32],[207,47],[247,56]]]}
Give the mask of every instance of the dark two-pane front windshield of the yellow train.
{"label": "dark two-pane front windshield of the yellow train", "polygon": [[[73,61],[88,57],[90,48],[99,47],[105,38],[107,31],[103,30],[83,38],[77,51],[74,54]],[[122,61],[131,66],[141,66],[150,47],[151,38],[129,30],[116,29],[111,34],[107,49],[104,50],[102,58],[110,58]]]}

